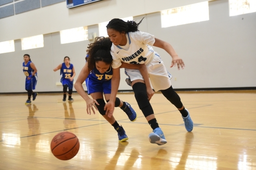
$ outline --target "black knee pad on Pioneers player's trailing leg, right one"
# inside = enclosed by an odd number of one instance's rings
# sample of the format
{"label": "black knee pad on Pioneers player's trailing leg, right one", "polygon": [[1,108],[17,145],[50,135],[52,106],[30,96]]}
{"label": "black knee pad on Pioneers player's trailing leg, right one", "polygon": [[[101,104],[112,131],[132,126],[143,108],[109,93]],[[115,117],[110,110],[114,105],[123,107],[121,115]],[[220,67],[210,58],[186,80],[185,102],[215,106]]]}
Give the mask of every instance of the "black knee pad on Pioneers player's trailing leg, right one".
{"label": "black knee pad on Pioneers player's trailing leg, right one", "polygon": [[172,86],[166,90],[161,90],[162,94],[168,99],[176,108],[182,108],[183,104],[179,95],[174,91]]}

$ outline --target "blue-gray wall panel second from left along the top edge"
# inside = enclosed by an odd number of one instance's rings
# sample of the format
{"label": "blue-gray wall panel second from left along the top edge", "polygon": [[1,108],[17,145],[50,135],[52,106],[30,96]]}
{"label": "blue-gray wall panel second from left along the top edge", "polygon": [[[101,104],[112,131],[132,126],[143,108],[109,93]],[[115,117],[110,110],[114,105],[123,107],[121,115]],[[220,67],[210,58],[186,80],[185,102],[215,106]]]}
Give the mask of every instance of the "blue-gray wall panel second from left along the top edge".
{"label": "blue-gray wall panel second from left along the top edge", "polygon": [[41,7],[40,0],[24,0],[18,3],[15,3],[15,14],[31,11],[33,9],[37,9],[40,7]]}

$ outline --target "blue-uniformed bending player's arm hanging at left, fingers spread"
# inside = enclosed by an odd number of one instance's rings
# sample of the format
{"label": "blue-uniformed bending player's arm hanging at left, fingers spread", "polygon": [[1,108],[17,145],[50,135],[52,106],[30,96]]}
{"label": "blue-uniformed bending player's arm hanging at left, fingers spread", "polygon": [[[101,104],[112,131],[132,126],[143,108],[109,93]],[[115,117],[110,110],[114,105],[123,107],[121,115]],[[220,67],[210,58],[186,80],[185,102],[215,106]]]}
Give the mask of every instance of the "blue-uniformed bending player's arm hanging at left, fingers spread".
{"label": "blue-uniformed bending player's arm hanging at left, fingers spread", "polygon": [[[91,110],[92,112],[95,114],[95,111],[94,111],[94,108],[96,110],[97,107],[94,103],[96,103],[97,105],[99,105],[99,103],[94,100],[94,99],[91,99],[86,93],[85,93],[85,90],[84,88],[82,87],[82,83],[85,81],[85,79],[88,77],[89,75],[89,71],[88,71],[88,63],[86,62],[85,63],[85,66],[82,68],[79,76],[77,77],[77,81],[74,85],[74,88],[77,90],[77,93],[82,96],[82,98],[85,100],[86,102],[86,111],[87,111],[87,114],[91,114]],[[94,108],[93,108],[94,107]]]}

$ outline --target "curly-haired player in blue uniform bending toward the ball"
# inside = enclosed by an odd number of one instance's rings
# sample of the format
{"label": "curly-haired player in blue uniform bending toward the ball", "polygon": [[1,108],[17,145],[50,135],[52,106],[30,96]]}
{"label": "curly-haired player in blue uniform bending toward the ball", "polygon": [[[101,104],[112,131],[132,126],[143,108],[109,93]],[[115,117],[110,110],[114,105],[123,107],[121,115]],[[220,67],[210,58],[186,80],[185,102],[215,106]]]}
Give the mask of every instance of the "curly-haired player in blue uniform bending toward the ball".
{"label": "curly-haired player in blue uniform bending toward the ball", "polygon": [[[86,63],[82,68],[77,81],[75,83],[75,89],[78,94],[86,102],[86,111],[91,114],[91,110],[94,112],[94,108],[100,112],[100,114],[115,128],[118,132],[119,142],[124,142],[128,139],[124,128],[118,124],[114,116],[106,116],[104,111],[105,101],[109,101],[111,93],[111,78],[112,78],[112,56],[110,54],[112,42],[109,38],[97,37],[94,43],[88,46]],[[129,64],[127,64],[129,65]],[[146,69],[143,65],[130,65],[133,69]],[[87,86],[88,94],[91,95],[92,99],[85,93],[82,87],[82,83],[85,81]],[[152,89],[151,89],[152,90]],[[96,105],[95,105],[96,104]],[[94,108],[93,108],[94,107]],[[115,98],[115,107],[120,107],[133,122],[137,119],[136,112],[127,102],[123,102],[118,97]]]}

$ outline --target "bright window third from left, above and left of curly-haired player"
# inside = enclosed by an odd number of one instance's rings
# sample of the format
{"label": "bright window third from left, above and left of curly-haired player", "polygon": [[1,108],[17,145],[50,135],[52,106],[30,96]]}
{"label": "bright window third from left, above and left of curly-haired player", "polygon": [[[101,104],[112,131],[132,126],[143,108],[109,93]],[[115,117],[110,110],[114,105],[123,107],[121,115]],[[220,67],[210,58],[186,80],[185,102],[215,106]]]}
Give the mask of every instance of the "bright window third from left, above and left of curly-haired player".
{"label": "bright window third from left, above and left of curly-haired player", "polygon": [[66,44],[71,42],[88,40],[88,28],[78,27],[60,31],[60,43]]}

